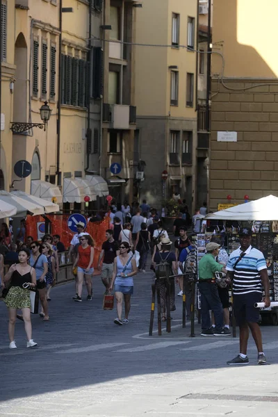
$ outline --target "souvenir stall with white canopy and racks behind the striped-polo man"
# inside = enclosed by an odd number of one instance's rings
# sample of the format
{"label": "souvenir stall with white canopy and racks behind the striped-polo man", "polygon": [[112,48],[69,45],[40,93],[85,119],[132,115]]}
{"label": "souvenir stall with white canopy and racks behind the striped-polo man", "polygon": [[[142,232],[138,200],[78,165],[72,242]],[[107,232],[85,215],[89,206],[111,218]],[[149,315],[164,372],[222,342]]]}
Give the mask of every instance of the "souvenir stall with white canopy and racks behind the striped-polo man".
{"label": "souvenir stall with white canopy and racks behind the striped-polo man", "polygon": [[[270,301],[278,301],[278,198],[269,195],[261,199],[226,208],[225,210],[206,215],[206,220],[229,220],[238,222],[240,227],[250,227],[254,231],[252,245],[263,252],[268,266],[270,279]],[[216,230],[216,232],[218,232]],[[199,234],[197,239],[197,258],[204,254],[204,247],[211,238],[218,237],[224,242],[228,254],[239,246],[238,230],[234,233],[222,231],[218,234]],[[198,300],[199,301],[199,300]],[[199,304],[199,302],[198,302]],[[261,309],[263,324],[278,325],[278,308]]]}

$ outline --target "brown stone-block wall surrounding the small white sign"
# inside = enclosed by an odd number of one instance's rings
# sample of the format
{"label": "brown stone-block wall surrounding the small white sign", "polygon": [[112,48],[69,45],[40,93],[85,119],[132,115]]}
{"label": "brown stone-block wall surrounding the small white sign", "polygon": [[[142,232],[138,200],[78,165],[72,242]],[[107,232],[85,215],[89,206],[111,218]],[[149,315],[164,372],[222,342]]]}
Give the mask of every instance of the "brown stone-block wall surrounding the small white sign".
{"label": "brown stone-block wall surrounding the small white sign", "polygon": [[[262,84],[254,87],[256,84]],[[272,84],[272,85],[271,85]],[[265,195],[278,197],[278,83],[212,80],[209,202],[242,203]],[[252,87],[248,90],[240,90]],[[218,142],[218,131],[234,131],[237,142]]]}

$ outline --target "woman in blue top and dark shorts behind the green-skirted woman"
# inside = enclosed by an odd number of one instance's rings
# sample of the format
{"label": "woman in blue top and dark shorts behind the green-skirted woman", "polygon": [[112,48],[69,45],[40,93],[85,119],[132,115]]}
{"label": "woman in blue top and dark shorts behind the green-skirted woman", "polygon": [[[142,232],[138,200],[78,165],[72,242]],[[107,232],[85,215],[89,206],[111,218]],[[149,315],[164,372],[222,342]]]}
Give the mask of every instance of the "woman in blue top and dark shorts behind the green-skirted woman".
{"label": "woman in blue top and dark shorts behind the green-skirted woman", "polygon": [[44,318],[44,321],[49,320],[48,304],[47,304],[47,283],[46,275],[48,272],[47,256],[42,254],[42,245],[38,241],[32,242],[31,256],[29,263],[35,269],[35,277],[37,279],[37,288],[39,291],[40,302],[42,304],[43,313],[40,313],[40,317]]}

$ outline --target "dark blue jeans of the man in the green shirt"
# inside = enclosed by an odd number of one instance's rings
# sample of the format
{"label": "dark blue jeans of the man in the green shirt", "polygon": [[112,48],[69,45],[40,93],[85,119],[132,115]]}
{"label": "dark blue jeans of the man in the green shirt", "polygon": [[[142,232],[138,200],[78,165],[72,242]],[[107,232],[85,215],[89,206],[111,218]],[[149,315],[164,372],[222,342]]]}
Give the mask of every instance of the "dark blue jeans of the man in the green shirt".
{"label": "dark blue jeans of the man in the green shirt", "polygon": [[215,328],[220,330],[224,326],[223,307],[218,295],[217,284],[199,281],[199,292],[201,293],[201,318],[202,329],[207,330],[211,327],[211,317],[209,311],[212,310],[215,318]]}

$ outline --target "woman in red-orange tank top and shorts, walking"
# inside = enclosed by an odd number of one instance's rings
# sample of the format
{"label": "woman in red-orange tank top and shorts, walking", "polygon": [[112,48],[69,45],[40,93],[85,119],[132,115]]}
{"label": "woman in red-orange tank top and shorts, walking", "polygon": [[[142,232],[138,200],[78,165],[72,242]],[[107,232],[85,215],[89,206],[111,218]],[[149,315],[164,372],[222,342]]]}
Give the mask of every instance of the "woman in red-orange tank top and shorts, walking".
{"label": "woman in red-orange tank top and shorts, walking", "polygon": [[[81,235],[81,236],[80,236]],[[82,286],[83,286],[83,278],[85,276],[85,283],[87,286],[88,296],[87,300],[92,300],[92,274],[94,272],[94,268],[92,268],[92,263],[94,261],[94,246],[95,242],[89,234],[80,234],[79,240],[81,245],[78,247],[78,252],[76,256],[76,260],[74,261],[74,265],[72,269],[74,269],[77,265],[77,295],[74,297],[74,301],[82,301]]]}

